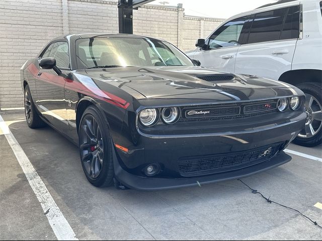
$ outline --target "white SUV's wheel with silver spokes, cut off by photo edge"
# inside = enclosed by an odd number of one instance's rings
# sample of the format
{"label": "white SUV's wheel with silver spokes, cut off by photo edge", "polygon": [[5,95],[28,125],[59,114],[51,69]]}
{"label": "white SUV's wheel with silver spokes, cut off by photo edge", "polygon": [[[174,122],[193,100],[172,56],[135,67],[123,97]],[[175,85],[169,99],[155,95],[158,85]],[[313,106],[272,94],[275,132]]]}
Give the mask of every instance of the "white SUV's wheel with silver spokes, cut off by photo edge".
{"label": "white SUV's wheel with silver spokes, cut off by photo edge", "polygon": [[306,96],[306,124],[294,143],[315,147],[322,143],[322,88],[319,83],[302,83],[297,86]]}

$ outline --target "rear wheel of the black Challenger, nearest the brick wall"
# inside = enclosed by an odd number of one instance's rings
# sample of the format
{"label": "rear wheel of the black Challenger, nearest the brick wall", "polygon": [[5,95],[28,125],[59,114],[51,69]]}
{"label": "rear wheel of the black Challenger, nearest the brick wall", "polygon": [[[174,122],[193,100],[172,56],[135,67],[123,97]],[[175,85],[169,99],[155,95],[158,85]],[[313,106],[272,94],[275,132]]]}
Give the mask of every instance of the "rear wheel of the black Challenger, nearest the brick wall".
{"label": "rear wheel of the black Challenger, nearest the brick wall", "polygon": [[35,129],[46,126],[44,121],[40,118],[37,108],[31,96],[30,88],[28,85],[25,87],[24,93],[25,116],[28,127]]}

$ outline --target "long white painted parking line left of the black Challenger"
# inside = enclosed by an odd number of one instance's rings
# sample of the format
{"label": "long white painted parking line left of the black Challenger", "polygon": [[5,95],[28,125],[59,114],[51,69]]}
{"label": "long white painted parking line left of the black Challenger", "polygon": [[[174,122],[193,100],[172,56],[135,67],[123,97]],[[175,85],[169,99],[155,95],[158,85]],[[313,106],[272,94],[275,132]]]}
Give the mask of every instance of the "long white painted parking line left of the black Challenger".
{"label": "long white painted parking line left of the black Challenger", "polygon": [[55,203],[54,199],[50,195],[46,185],[43,183],[33,165],[30,163],[25,152],[17,142],[16,138],[10,131],[9,127],[4,122],[4,119],[0,115],[0,129],[5,135],[9,145],[11,146],[15,156],[26,175],[26,178],[33,189],[38,201],[40,202],[44,213],[46,214],[49,224],[54,231],[58,240],[78,240],[74,231],[70,227],[69,223],[61,213],[59,207]]}

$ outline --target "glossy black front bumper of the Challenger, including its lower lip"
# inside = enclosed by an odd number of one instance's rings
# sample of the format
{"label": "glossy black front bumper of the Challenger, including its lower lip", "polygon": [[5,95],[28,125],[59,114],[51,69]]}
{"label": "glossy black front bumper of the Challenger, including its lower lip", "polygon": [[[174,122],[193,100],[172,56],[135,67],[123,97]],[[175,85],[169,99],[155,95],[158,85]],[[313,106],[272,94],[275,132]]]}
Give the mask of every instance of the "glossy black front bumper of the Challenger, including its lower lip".
{"label": "glossy black front bumper of the Challenger, including its lower lip", "polygon": [[[136,190],[163,190],[190,187],[253,175],[291,160],[282,150],[298,135],[305,124],[305,113],[292,116],[287,122],[261,125],[257,128],[245,128],[234,131],[233,128],[222,129],[209,135],[193,136],[141,136],[144,148],[131,150],[129,153],[117,150],[114,153],[114,170],[116,179],[125,186]],[[238,127],[236,127],[238,128]],[[229,156],[261,147],[280,144],[278,151],[266,160],[250,165],[240,165],[224,171],[185,175],[180,170],[179,160],[196,156]],[[270,150],[270,149],[264,149]],[[198,157],[199,157],[198,156]],[[163,172],[154,177],[142,174],[142,168],[157,163]]]}

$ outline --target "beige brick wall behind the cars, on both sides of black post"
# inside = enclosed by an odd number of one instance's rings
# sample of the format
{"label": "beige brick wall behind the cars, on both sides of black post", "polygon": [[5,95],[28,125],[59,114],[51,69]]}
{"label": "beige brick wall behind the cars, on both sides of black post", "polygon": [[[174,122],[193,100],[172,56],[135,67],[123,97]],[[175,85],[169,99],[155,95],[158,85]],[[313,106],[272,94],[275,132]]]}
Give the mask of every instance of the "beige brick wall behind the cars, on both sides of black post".
{"label": "beige brick wall behind the cars, on both sides of black post", "polygon": [[[184,17],[184,9],[134,10],[133,32],[165,39],[186,51],[221,19]],[[65,33],[118,33],[117,2],[103,0],[0,0],[0,108],[23,106],[20,67]]]}

